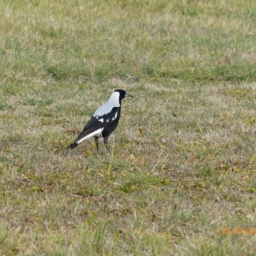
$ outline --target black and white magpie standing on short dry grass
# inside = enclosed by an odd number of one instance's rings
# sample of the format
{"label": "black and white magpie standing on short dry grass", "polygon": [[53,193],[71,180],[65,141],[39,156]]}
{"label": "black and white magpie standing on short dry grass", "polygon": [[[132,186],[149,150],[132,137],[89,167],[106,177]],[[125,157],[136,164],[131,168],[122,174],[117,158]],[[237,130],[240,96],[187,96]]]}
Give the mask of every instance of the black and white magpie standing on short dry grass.
{"label": "black and white magpie standing on short dry grass", "polygon": [[82,141],[94,136],[97,150],[99,152],[98,140],[99,137],[104,138],[104,145],[108,152],[108,137],[115,131],[121,115],[121,102],[126,97],[132,97],[124,90],[115,90],[104,105],[100,106],[92,115],[90,121],[85,125],[83,131],[76,138],[74,143],[71,143],[68,148],[75,148]]}

